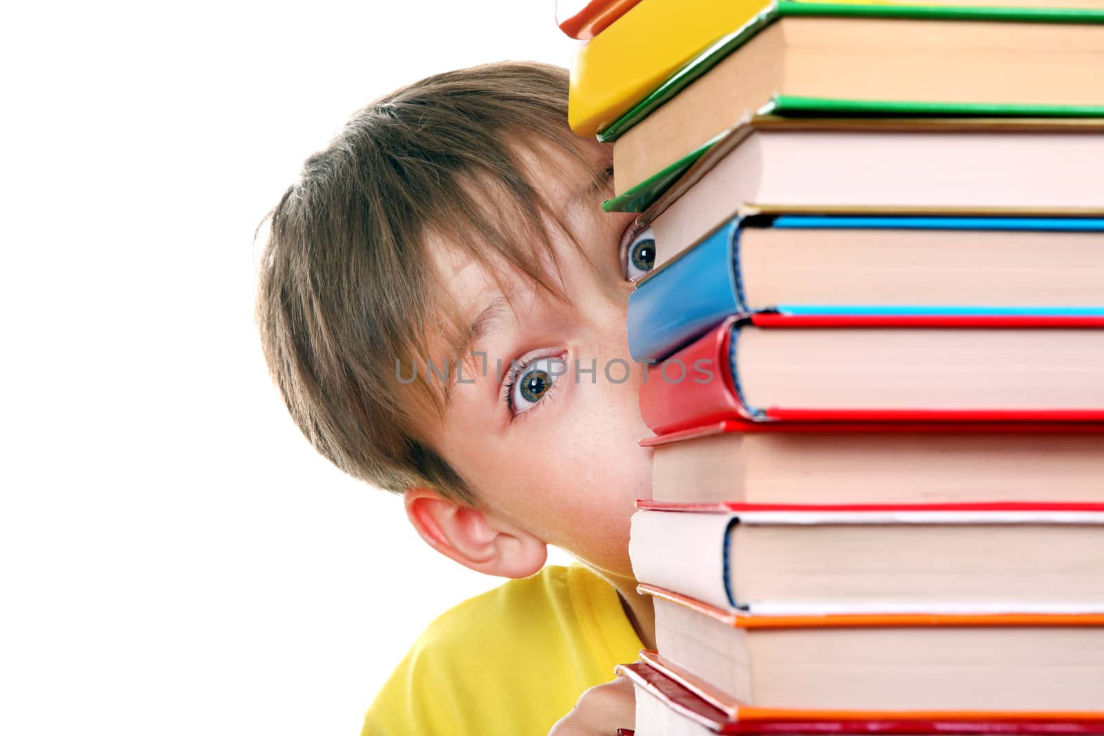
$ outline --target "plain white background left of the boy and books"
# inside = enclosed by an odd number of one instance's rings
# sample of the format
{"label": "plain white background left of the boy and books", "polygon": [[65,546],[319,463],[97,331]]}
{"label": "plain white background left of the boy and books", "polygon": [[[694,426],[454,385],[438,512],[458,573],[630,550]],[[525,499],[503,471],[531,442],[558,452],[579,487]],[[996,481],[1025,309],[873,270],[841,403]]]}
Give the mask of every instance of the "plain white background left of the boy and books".
{"label": "plain white background left of the boy and books", "polygon": [[298,434],[254,231],[379,95],[574,42],[552,0],[3,15],[0,733],[358,734],[425,625],[501,580]]}

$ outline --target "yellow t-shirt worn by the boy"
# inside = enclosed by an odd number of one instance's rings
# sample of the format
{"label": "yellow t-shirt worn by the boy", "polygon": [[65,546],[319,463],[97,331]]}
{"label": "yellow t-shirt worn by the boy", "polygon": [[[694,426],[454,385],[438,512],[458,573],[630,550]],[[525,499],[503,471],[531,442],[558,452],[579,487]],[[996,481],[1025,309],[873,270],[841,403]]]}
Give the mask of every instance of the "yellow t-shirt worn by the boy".
{"label": "yellow t-shirt worn by the boy", "polygon": [[613,586],[583,565],[546,566],[431,623],[361,736],[546,736],[640,649]]}

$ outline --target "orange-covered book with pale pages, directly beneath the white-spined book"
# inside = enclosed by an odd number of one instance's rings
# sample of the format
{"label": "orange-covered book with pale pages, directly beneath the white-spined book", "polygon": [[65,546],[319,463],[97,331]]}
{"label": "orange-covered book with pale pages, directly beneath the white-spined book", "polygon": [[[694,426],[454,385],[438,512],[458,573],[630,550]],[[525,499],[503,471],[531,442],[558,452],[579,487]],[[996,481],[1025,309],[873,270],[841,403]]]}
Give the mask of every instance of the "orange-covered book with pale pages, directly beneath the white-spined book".
{"label": "orange-covered book with pale pages, directly beneath the white-spined book", "polygon": [[637,590],[655,599],[662,655],[752,707],[1104,710],[1101,614],[751,616]]}

